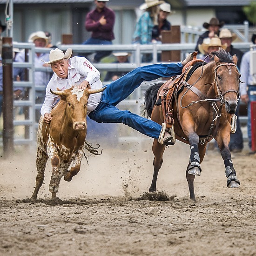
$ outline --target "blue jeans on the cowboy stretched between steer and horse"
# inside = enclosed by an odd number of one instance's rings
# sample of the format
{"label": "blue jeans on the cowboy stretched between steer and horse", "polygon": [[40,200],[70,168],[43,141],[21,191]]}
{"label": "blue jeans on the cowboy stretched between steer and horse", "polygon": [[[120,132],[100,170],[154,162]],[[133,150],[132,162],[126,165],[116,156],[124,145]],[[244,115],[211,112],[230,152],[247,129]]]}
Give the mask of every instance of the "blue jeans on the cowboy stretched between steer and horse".
{"label": "blue jeans on the cowboy stretched between steer and horse", "polygon": [[115,106],[127,98],[143,81],[152,81],[160,77],[171,77],[182,73],[182,63],[154,64],[137,67],[128,74],[106,85],[97,108],[88,116],[96,122],[123,123],[131,128],[158,139],[161,125],[147,118],[135,115],[128,110]]}

